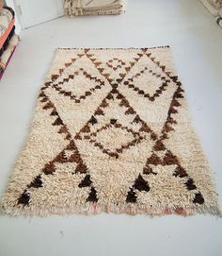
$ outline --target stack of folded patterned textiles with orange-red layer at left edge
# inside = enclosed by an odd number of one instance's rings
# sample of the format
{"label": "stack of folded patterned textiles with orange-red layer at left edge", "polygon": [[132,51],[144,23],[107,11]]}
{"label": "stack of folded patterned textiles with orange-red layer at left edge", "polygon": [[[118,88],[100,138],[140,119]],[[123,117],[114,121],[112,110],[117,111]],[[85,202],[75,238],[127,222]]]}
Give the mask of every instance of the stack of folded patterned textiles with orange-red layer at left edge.
{"label": "stack of folded patterned textiles with orange-red layer at left edge", "polygon": [[15,13],[8,7],[0,7],[0,79],[8,66],[19,42],[15,34]]}

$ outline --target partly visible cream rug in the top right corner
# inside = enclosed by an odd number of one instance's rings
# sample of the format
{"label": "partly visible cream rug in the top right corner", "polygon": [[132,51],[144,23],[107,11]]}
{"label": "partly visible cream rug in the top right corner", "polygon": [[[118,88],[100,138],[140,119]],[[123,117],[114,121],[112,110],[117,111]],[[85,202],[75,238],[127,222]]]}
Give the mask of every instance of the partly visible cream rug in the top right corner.
{"label": "partly visible cream rug in the top right corner", "polygon": [[216,23],[222,27],[222,0],[200,0],[215,16]]}

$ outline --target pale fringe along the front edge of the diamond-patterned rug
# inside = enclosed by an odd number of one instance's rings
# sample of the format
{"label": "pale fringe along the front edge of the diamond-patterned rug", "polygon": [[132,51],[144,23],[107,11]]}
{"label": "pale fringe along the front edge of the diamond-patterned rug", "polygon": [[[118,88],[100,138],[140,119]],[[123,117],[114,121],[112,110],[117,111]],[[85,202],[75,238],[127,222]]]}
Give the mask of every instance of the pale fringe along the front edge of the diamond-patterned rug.
{"label": "pale fringe along the front edge of the diamond-patterned rug", "polygon": [[214,216],[221,217],[222,213],[218,207],[212,206],[201,206],[195,209],[193,208],[154,208],[154,207],[144,207],[138,208],[133,205],[99,205],[97,203],[88,203],[87,206],[75,205],[73,207],[64,207],[57,208],[51,207],[50,209],[42,207],[28,207],[25,209],[15,209],[4,207],[3,204],[0,206],[0,214],[1,215],[10,215],[10,216],[24,216],[24,217],[32,217],[32,216],[40,216],[44,217],[50,214],[55,215],[71,215],[71,214],[84,214],[84,215],[95,215],[99,213],[127,213],[131,215],[135,214],[149,214],[150,216],[163,216],[168,214],[178,214],[182,216],[194,215],[196,213],[204,213],[204,214],[213,214]]}

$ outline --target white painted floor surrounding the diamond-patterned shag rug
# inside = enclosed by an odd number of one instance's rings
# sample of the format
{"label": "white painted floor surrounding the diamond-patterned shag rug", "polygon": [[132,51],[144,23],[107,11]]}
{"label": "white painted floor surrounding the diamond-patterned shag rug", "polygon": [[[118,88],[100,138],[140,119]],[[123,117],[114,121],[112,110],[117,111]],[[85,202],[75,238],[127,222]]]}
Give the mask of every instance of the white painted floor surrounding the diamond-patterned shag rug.
{"label": "white painted floor surrounding the diamond-patterned shag rug", "polygon": [[[126,14],[25,30],[0,82],[0,196],[24,144],[56,47],[169,44],[222,205],[222,29],[198,0],[129,0]],[[222,219],[100,214],[0,217],[1,256],[220,256]]]}

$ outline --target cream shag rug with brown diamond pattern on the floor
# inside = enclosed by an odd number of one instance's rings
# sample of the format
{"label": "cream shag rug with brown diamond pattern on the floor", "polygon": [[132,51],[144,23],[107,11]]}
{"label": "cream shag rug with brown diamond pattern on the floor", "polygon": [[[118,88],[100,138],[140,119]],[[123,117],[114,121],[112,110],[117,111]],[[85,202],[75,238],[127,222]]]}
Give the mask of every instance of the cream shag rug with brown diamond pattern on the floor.
{"label": "cream shag rug with brown diamond pattern on the floor", "polygon": [[57,49],[1,208],[219,214],[170,48]]}

